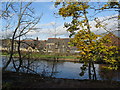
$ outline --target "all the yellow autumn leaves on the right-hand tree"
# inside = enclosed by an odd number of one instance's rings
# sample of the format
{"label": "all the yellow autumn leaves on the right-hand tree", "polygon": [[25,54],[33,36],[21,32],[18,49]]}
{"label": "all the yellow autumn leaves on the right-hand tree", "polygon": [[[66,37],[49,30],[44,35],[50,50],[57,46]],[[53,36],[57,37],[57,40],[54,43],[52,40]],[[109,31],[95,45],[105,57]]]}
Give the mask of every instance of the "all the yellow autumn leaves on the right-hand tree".
{"label": "all the yellow autumn leaves on the right-hand tree", "polygon": [[[108,5],[102,6],[101,10],[108,8]],[[78,48],[80,59],[84,62],[88,59],[95,61],[99,57],[100,60],[104,60],[112,64],[112,66],[117,65],[118,62],[115,56],[118,54],[118,48],[110,44],[111,39],[109,35],[97,35],[91,32],[87,9],[89,9],[87,2],[64,2],[62,8],[59,9],[58,14],[62,17],[72,17],[72,22],[67,26],[71,36],[74,35],[70,42],[71,45]],[[104,27],[100,23],[95,26],[96,28]],[[111,46],[108,46],[108,43]]]}

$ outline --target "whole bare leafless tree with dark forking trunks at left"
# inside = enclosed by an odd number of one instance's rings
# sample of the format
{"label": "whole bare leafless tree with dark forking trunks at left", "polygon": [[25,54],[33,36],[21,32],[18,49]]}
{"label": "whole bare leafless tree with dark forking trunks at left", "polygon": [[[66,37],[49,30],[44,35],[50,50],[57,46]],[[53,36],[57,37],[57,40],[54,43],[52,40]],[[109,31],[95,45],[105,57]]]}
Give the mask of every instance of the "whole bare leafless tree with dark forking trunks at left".
{"label": "whole bare leafless tree with dark forking trunks at left", "polygon": [[[20,53],[20,40],[21,40],[20,38],[21,36],[26,35],[29,31],[33,30],[33,28],[40,21],[40,18],[41,18],[41,16],[39,17],[35,16],[33,8],[31,8],[31,4],[32,4],[31,2],[28,2],[28,3],[19,2],[19,3],[9,3],[9,4],[4,3],[6,7],[3,10],[2,17],[3,19],[6,19],[5,17],[7,15],[7,17],[11,18],[10,19],[11,25],[14,24],[14,27],[11,28],[13,29],[13,35],[11,39],[10,57],[6,65],[3,67],[3,70],[5,70],[8,67],[11,61],[13,61],[13,65],[16,68],[16,71],[19,71],[22,65],[21,53]],[[12,9],[10,8],[10,6]],[[9,15],[11,15],[11,13],[14,15],[10,17]],[[15,40],[17,39],[18,39],[18,55],[19,55],[18,67],[16,67],[13,60],[14,43],[15,43]]]}

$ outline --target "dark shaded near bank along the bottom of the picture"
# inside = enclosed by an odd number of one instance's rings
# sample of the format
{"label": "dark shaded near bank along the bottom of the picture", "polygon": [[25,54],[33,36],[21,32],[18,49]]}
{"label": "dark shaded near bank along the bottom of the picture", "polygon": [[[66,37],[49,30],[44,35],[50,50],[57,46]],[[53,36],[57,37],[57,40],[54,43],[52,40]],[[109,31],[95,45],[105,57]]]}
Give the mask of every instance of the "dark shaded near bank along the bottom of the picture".
{"label": "dark shaded near bank along the bottom of the picture", "polygon": [[[41,77],[35,74],[25,74],[5,71],[3,74],[3,89],[14,88],[120,88],[120,82],[101,80],[75,80]],[[8,90],[7,89],[7,90]]]}

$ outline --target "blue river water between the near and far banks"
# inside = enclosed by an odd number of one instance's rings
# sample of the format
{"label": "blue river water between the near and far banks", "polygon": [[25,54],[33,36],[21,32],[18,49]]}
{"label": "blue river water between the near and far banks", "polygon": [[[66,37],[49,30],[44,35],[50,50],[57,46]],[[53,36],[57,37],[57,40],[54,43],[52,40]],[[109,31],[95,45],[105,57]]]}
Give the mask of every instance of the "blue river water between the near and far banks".
{"label": "blue river water between the near and far banks", "polygon": [[[5,61],[8,57],[3,56],[2,58],[3,66]],[[45,61],[45,60],[37,60],[37,61],[29,61],[30,66],[29,69],[21,68],[21,72],[28,72],[28,73],[39,73],[44,76],[52,76],[56,78],[67,78],[67,79],[88,79],[88,70],[84,74],[84,76],[80,76],[79,73],[81,72],[80,67],[82,63],[74,63],[74,62],[55,62],[53,61]],[[18,63],[16,63],[17,65]],[[23,66],[28,66],[28,61],[24,60]],[[104,71],[102,69],[103,64],[95,64],[96,74],[98,80],[115,80],[120,81],[120,71]],[[15,71],[13,68],[13,64],[10,63],[7,70]],[[34,71],[34,72],[33,72]],[[53,72],[53,74],[51,74]]]}

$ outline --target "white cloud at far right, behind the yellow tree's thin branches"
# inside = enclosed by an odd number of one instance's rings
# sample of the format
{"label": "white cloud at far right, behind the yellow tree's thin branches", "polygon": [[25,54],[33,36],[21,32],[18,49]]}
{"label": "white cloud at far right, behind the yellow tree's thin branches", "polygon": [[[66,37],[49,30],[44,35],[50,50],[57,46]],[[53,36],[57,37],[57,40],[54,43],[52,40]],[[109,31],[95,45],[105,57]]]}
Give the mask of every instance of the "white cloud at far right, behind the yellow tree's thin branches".
{"label": "white cloud at far right, behind the yellow tree's thin branches", "polygon": [[112,32],[118,30],[118,15],[99,17],[98,19],[101,22],[101,24],[104,25],[106,30],[102,27],[96,28],[95,25],[97,23],[95,21],[90,21],[90,25],[92,26],[91,30],[96,34],[105,33],[107,31]]}

